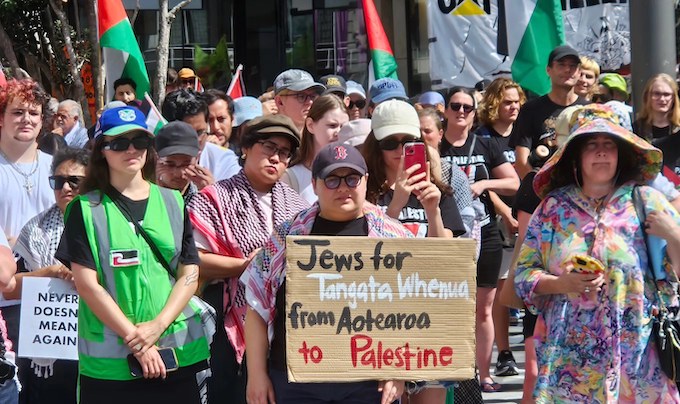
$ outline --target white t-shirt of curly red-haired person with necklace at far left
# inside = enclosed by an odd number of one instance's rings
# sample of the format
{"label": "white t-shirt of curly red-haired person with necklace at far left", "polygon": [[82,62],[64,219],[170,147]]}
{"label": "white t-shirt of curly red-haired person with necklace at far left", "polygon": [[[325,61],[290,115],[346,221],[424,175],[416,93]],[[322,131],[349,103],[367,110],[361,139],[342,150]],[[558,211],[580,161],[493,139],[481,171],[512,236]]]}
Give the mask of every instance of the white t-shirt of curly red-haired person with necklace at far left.
{"label": "white t-shirt of curly red-haired person with necklace at far left", "polygon": [[50,188],[52,156],[38,151],[38,167],[26,179],[17,172],[30,173],[35,163],[20,163],[14,167],[0,155],[0,228],[8,237],[17,237],[24,225],[35,215],[54,205],[54,191]]}

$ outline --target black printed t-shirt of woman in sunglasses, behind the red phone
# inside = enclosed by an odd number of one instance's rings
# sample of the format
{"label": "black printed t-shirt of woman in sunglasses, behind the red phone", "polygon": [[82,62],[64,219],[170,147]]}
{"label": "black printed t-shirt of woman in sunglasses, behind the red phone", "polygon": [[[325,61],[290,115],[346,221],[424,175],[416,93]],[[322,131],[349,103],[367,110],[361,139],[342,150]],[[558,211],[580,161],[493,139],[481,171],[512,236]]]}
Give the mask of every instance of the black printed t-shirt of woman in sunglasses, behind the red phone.
{"label": "black printed t-shirt of woman in sunglasses, behind the red phone", "polygon": [[[470,154],[473,137],[472,134],[469,135],[462,146],[453,146],[446,138],[443,138],[439,145],[439,154],[441,154],[442,160],[462,168],[470,179],[471,184],[494,178],[491,175],[491,170],[508,162],[497,141],[481,136],[476,136],[475,147],[472,154]],[[469,164],[468,155],[470,155]],[[479,199],[484,203],[487,215],[492,218],[495,217],[496,210],[493,207],[491,198],[489,198],[489,193],[485,191],[480,195]],[[485,222],[486,218],[481,221]]]}

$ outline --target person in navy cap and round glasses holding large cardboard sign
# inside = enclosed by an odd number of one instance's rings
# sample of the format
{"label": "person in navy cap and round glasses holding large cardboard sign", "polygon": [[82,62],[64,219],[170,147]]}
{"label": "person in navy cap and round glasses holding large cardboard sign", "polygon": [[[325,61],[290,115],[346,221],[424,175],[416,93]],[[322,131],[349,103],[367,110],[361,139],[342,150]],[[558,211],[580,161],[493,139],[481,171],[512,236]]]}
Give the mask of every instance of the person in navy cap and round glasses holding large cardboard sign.
{"label": "person in navy cap and round glasses holding large cardboard sign", "polygon": [[[312,164],[318,202],[277,227],[241,276],[246,286],[249,404],[391,403],[403,381],[289,383],[286,374],[286,236],[412,237],[399,222],[366,202],[366,162],[355,148],[323,147]],[[271,339],[269,336],[273,336]],[[269,358],[269,359],[268,359]]]}

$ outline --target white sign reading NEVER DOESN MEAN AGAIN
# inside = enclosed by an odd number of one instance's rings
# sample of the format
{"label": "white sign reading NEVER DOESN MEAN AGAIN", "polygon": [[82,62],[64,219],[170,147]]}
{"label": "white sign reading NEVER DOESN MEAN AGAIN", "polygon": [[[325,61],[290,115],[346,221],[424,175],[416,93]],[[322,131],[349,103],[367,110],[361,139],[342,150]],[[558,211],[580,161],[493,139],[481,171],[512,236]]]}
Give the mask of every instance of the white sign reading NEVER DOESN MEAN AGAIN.
{"label": "white sign reading NEVER DOESN MEAN AGAIN", "polygon": [[18,354],[78,360],[78,292],[73,282],[24,277]]}

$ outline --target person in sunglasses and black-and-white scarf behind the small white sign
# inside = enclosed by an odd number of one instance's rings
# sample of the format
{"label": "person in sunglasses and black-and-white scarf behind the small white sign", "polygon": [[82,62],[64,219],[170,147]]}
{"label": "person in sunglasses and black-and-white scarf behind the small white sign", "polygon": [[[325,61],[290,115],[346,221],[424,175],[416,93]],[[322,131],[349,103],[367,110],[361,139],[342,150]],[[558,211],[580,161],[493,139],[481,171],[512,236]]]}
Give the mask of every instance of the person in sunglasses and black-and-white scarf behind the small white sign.
{"label": "person in sunglasses and black-and-white scarf behind the small white sign", "polygon": [[[19,273],[15,275],[16,288],[3,293],[5,299],[21,299],[23,279],[45,277],[73,280],[71,271],[59,262],[57,252],[64,231],[66,206],[78,195],[80,182],[85,178],[85,168],[90,160],[84,149],[67,148],[59,151],[52,160],[50,187],[57,201],[41,212],[21,229],[14,253],[19,256]],[[22,402],[26,404],[70,404],[76,402],[78,362],[56,359],[19,358],[19,380]]]}

